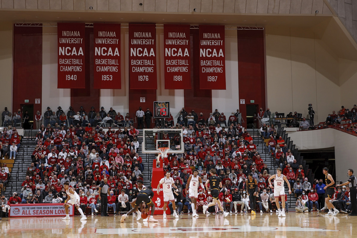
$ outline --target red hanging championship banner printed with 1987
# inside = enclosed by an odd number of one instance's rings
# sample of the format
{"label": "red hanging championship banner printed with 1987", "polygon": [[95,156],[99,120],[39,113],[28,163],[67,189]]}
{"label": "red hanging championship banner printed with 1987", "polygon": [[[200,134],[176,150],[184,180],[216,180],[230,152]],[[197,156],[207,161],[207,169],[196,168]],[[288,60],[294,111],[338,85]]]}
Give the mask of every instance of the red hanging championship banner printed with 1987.
{"label": "red hanging championship banner printed with 1987", "polygon": [[226,89],[224,26],[200,25],[200,89]]}

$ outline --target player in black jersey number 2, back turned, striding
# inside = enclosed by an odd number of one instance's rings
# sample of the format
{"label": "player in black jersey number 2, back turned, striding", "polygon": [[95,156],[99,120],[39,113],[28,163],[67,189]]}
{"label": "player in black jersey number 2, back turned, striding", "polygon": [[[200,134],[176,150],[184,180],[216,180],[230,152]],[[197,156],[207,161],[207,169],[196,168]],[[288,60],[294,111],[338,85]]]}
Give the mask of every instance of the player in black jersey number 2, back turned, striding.
{"label": "player in black jersey number 2, back turned, striding", "polygon": [[[223,212],[223,215],[226,217],[226,216],[228,216],[229,212],[224,211],[221,201],[218,200],[218,194],[220,193],[220,188],[222,188],[222,180],[220,177],[216,176],[216,169],[212,168],[210,170],[210,174],[211,174],[211,176],[207,179],[205,186],[206,186],[206,189],[208,190],[207,184],[210,183],[212,202],[208,203],[207,206],[203,205],[203,207],[202,207],[203,214],[208,213],[208,212],[206,212],[208,207],[215,206],[217,204],[218,207]],[[208,214],[210,214],[210,213],[208,213]]]}

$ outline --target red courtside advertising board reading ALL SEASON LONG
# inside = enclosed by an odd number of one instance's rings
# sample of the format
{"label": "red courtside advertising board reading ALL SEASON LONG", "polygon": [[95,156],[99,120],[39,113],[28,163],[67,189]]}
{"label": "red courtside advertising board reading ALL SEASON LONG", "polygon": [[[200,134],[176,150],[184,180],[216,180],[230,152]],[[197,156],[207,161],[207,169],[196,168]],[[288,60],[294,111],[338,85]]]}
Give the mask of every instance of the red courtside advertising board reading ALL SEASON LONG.
{"label": "red courtside advertising board reading ALL SEASON LONG", "polygon": [[[66,216],[64,203],[25,203],[10,204],[9,217],[58,217]],[[74,206],[69,208],[70,216],[74,216]]]}

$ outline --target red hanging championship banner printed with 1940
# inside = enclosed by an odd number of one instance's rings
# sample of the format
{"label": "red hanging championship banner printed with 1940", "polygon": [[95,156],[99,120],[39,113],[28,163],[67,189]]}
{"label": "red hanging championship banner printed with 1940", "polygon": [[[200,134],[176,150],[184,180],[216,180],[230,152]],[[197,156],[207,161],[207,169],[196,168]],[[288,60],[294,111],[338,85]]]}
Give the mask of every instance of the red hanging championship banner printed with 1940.
{"label": "red hanging championship banner printed with 1940", "polygon": [[57,23],[57,88],[85,88],[84,41],[84,23]]}

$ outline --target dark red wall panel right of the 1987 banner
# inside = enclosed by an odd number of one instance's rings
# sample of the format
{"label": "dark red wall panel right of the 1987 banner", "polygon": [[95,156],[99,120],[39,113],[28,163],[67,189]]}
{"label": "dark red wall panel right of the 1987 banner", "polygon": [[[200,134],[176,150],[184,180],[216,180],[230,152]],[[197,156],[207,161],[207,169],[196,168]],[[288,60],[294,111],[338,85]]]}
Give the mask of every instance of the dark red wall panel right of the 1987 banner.
{"label": "dark red wall panel right of the 1987 banner", "polygon": [[[263,30],[237,30],[239,99],[265,110],[265,47]],[[237,102],[239,103],[239,101]],[[246,105],[240,104],[246,127]]]}

